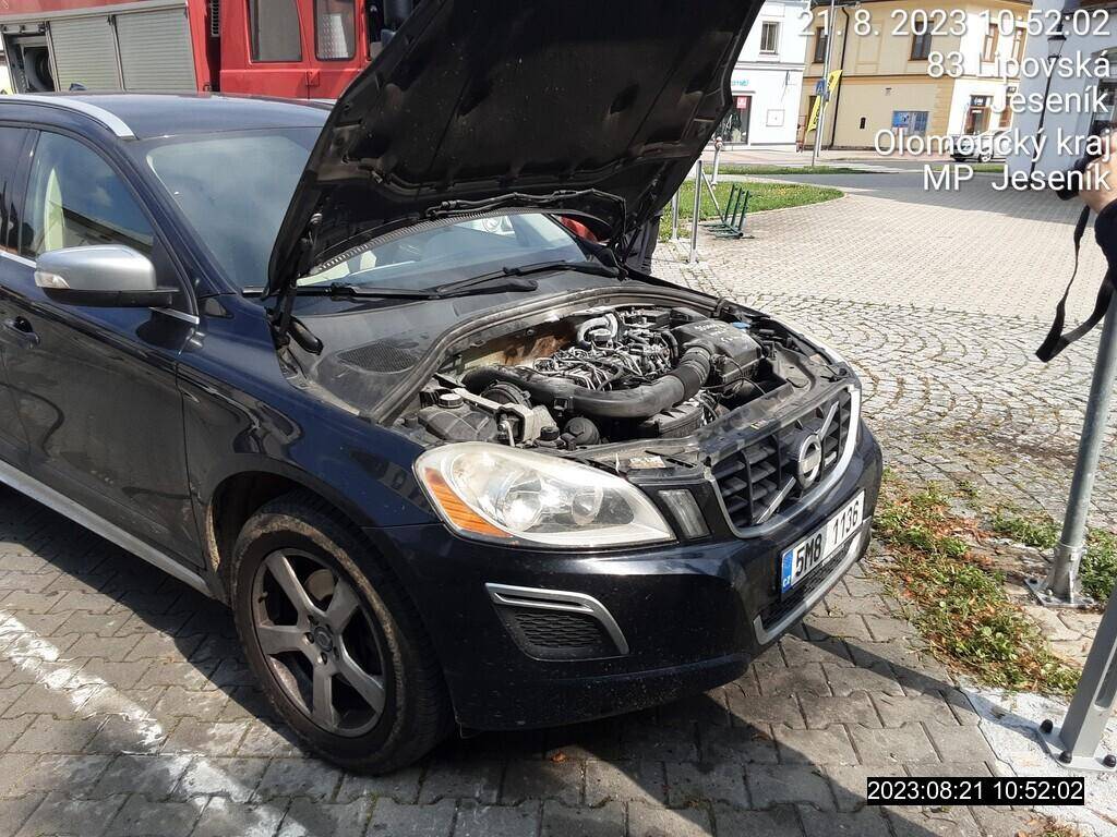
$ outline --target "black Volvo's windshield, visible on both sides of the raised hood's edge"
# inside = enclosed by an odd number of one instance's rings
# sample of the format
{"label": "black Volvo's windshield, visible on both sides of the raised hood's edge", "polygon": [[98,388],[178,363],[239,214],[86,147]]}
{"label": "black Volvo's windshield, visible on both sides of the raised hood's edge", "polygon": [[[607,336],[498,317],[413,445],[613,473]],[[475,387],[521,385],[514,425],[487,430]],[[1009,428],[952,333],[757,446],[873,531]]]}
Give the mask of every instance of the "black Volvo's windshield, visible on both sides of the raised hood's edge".
{"label": "black Volvo's windshield, visible on both sides of the raised hood's edge", "polygon": [[[317,128],[172,137],[145,144],[147,165],[231,282],[267,282],[268,260]],[[588,260],[548,215],[509,213],[391,237],[299,279],[367,288],[433,288],[493,269]]]}

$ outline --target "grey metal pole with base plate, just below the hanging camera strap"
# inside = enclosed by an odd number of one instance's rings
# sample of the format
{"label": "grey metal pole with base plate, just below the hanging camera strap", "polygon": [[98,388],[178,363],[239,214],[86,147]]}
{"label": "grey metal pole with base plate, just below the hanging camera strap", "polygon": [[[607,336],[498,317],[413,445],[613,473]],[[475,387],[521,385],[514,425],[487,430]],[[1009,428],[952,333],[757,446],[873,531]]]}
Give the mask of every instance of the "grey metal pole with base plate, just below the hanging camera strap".
{"label": "grey metal pole with base plate, just below the hanging camera strap", "polygon": [[[1078,565],[1086,552],[1086,517],[1090,510],[1090,494],[1098,472],[1101,443],[1105,441],[1109,423],[1109,402],[1117,377],[1117,295],[1109,300],[1109,310],[1101,328],[1098,359],[1094,366],[1094,382],[1090,384],[1090,400],[1086,404],[1086,420],[1082,422],[1082,437],[1078,444],[1078,460],[1075,462],[1075,478],[1070,483],[1067,500],[1067,517],[1062,523],[1062,535],[1054,548],[1051,571],[1040,581],[1029,578],[1028,587],[1037,598],[1049,606],[1081,606],[1083,602],[1078,583]],[[1115,617],[1117,618],[1117,617]]]}

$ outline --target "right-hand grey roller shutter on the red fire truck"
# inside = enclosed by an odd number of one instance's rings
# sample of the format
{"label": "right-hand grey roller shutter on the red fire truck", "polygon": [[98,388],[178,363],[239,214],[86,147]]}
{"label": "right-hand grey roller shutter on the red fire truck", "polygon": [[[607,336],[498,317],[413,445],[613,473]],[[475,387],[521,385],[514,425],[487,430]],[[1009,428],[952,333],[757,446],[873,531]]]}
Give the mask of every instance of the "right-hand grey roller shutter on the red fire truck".
{"label": "right-hand grey roller shutter on the red fire truck", "polygon": [[116,18],[125,90],[197,90],[185,9]]}

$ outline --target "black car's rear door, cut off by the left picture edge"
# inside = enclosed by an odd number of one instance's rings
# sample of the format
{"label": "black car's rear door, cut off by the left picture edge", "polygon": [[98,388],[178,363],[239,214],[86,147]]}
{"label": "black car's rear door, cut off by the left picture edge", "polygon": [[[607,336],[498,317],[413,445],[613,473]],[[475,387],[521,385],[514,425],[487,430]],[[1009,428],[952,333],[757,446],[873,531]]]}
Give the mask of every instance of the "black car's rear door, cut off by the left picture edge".
{"label": "black car's rear door, cut off by the left picture edge", "polygon": [[[0,125],[0,288],[16,281],[27,269],[19,256],[19,174],[29,153],[31,132]],[[11,319],[11,306],[0,295],[0,323]],[[0,460],[18,469],[26,468],[27,436],[20,424],[6,364],[16,335],[0,326]],[[18,340],[17,340],[18,344]]]}

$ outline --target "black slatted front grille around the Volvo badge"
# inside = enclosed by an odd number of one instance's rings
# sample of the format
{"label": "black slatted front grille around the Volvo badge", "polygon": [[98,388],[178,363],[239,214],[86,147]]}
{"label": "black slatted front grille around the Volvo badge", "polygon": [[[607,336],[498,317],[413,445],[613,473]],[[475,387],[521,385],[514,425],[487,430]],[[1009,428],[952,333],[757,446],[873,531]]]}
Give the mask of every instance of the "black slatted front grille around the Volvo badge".
{"label": "black slatted front grille around the Volvo badge", "polygon": [[[820,437],[822,465],[818,479],[803,489],[795,479],[795,443],[805,432],[822,427],[831,406],[838,410],[833,420]],[[813,485],[833,472],[841,460],[846,443],[850,437],[853,421],[853,396],[843,389],[836,398],[809,410],[792,423],[753,442],[714,465],[714,479],[725,502],[729,520],[737,529],[747,529],[763,523],[766,519],[786,511],[799,502]],[[767,513],[773,500],[787,483],[791,490],[779,506]]]}

